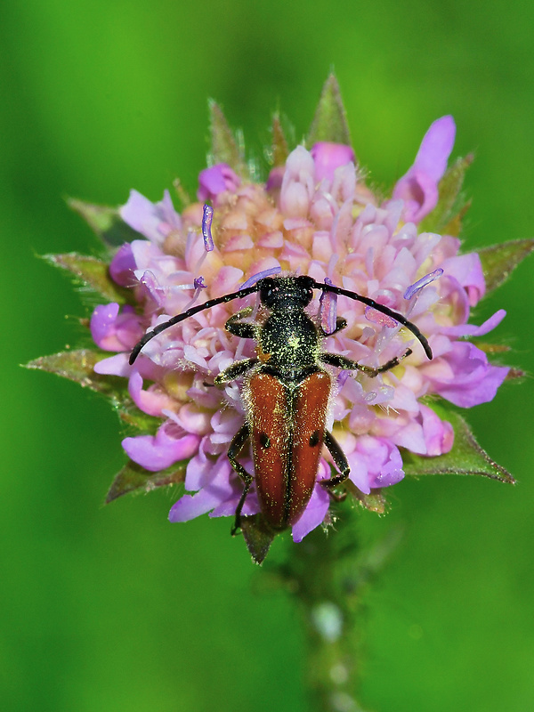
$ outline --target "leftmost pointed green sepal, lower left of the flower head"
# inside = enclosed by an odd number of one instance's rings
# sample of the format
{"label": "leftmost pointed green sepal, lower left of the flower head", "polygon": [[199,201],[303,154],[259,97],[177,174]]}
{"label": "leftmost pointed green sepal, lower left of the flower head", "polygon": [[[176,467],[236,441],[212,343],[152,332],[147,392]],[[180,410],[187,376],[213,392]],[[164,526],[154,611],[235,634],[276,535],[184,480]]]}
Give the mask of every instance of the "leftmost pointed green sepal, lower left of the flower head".
{"label": "leftmost pointed green sepal, lower left of the flower head", "polygon": [[149,416],[138,409],[126,387],[125,378],[101,375],[94,372],[94,365],[109,356],[109,352],[92,349],[78,349],[41,356],[26,364],[26,368],[36,368],[57,376],[68,378],[85,388],[101,393],[117,411],[118,417],[135,430],[155,433],[161,425],[161,418]]}

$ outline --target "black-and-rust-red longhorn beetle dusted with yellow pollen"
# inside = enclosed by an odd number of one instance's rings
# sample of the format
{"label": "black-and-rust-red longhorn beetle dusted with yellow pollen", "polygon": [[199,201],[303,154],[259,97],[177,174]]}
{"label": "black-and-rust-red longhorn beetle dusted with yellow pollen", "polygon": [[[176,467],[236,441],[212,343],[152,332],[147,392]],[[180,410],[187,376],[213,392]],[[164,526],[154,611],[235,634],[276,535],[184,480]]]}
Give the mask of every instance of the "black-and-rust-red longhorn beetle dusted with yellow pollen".
{"label": "black-and-rust-red longhorn beetle dusted with yellow pollen", "polygon": [[[304,312],[312,301],[313,289],[347,296],[391,317],[417,336],[427,357],[432,359],[432,350],[425,336],[402,314],[366,296],[326,282],[321,284],[306,275],[264,277],[253,286],[193,306],[145,334],[130,356],[130,363],[133,364],[142,347],[154,336],[198,312],[211,309],[215,304],[259,292],[261,303],[271,312],[261,325],[243,320],[250,315],[252,307],[231,316],[226,322],[226,329],[234,336],[254,339],[257,356],[235,361],[214,379],[214,383],[220,385],[245,376],[242,399],[246,422],[232,439],[228,450],[231,466],[244,482],[232,535],[240,528],[241,511],[253,479],[263,519],[271,530],[279,531],[294,524],[310,501],[323,445],[330,452],[339,473],[322,480],[321,485],[332,493],[349,476],[347,458],[332,433],[325,428],[332,382],[324,366],[359,370],[368,376],[377,376],[397,366],[411,353],[408,349],[401,357],[389,360],[379,368],[371,368],[342,355],[323,352],[321,341],[330,335]],[[332,333],[336,334],[345,326],[346,321],[337,318]],[[249,440],[252,441],[254,478],[237,459]]]}

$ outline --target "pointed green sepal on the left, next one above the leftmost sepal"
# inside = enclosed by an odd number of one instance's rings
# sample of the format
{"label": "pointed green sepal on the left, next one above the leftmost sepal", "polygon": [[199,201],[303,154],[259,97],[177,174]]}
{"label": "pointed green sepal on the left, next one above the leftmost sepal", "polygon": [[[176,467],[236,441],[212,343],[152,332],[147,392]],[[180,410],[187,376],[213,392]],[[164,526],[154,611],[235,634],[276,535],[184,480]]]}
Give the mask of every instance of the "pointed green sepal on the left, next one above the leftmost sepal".
{"label": "pointed green sepal on the left, next one above the leftmost sepal", "polygon": [[92,289],[106,301],[119,304],[134,303],[134,295],[119,287],[109,275],[109,265],[97,257],[70,252],[63,255],[43,255],[46,262],[69,271],[85,287]]}

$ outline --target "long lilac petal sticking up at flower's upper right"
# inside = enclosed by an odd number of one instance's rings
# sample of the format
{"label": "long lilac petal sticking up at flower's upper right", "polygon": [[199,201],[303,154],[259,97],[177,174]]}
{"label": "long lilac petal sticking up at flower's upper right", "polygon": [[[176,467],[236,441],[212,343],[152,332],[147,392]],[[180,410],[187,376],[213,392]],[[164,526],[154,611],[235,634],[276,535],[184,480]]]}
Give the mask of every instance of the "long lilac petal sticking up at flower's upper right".
{"label": "long lilac petal sticking up at flower's upper right", "polygon": [[404,200],[404,220],[420,223],[438,203],[438,183],[447,168],[456,135],[453,117],[438,118],[425,134],[416,160],[397,182],[393,198]]}

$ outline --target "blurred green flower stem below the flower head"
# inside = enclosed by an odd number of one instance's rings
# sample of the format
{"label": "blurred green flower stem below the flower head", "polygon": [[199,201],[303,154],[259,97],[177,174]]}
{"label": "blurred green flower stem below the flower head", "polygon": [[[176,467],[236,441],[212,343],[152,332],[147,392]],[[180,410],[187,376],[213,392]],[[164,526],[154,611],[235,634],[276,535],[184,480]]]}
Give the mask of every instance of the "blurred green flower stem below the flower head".
{"label": "blurred green flower stem below the flower head", "polygon": [[306,635],[306,688],[314,712],[363,712],[360,682],[361,597],[363,589],[399,540],[394,530],[366,550],[355,520],[344,515],[336,536],[315,530],[291,546],[281,573],[295,595]]}

